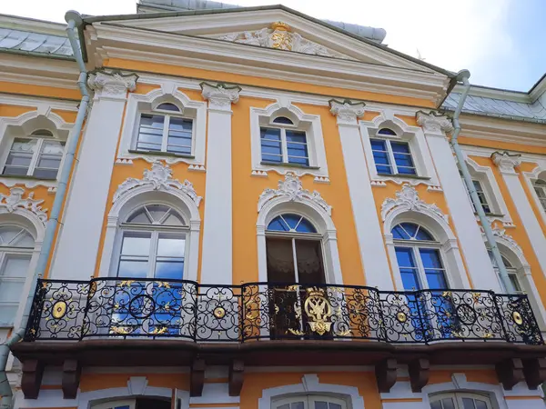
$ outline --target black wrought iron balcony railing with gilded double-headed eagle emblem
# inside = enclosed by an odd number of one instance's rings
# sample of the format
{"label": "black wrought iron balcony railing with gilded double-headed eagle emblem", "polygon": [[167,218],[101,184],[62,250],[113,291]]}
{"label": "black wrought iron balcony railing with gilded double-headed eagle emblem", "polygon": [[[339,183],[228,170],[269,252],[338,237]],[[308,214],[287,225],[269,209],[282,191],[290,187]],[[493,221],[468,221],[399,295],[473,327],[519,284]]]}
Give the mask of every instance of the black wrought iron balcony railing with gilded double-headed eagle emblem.
{"label": "black wrought iron balcony railing with gilded double-headed eagle emblem", "polygon": [[525,294],[132,278],[40,280],[25,340],[93,337],[543,344]]}

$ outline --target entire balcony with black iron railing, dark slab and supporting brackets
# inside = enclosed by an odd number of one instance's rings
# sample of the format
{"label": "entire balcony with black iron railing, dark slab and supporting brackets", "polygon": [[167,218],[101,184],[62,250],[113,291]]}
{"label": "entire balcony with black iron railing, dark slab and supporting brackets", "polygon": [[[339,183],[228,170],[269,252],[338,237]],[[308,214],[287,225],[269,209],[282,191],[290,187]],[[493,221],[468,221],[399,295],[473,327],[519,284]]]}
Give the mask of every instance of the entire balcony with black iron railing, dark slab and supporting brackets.
{"label": "entire balcony with black iron railing, dark slab and supporting brackets", "polygon": [[505,388],[546,380],[546,345],[525,294],[379,291],[355,285],[207,285],[96,278],[40,280],[25,342],[27,399],[44,368],[63,368],[74,398],[84,366],[188,366],[201,394],[206,365],[229,367],[229,394],[247,366],[374,365],[380,392],[408,365],[414,392],[431,364],[494,365]]}

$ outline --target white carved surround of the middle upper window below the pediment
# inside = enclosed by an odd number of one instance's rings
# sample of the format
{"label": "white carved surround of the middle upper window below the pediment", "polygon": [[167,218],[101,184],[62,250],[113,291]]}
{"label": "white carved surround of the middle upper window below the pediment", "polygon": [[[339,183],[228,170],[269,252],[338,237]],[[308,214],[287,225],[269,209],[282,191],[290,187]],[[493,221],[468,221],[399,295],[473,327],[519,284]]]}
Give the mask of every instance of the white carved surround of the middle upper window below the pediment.
{"label": "white carved surround of the middle upper window below the pediment", "polygon": [[[286,116],[298,130],[305,130],[308,143],[309,166],[271,165],[263,163],[261,159],[260,126],[270,125],[277,116]],[[329,183],[328,164],[320,115],[305,114],[297,106],[292,105],[287,99],[280,99],[277,103],[268,107],[250,107],[250,136],[252,149],[252,175],[267,176],[272,171],[278,175],[293,173],[298,176],[313,175],[315,182]]]}

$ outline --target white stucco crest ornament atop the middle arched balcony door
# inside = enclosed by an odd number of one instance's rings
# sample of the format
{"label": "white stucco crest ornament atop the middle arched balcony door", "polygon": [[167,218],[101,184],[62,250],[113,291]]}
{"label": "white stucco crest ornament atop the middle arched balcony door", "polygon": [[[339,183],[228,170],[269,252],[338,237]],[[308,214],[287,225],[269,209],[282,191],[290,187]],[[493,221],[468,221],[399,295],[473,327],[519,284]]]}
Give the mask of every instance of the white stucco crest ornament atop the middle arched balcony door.
{"label": "white stucco crest ornament atop the middle arched balcony door", "polygon": [[297,175],[288,173],[285,175],[285,180],[278,181],[277,189],[266,189],[259,195],[258,200],[258,212],[266,205],[270,200],[273,200],[278,197],[283,197],[290,202],[314,202],[316,205],[319,205],[322,210],[327,214],[332,214],[332,206],[326,203],[322,198],[319,192],[314,191],[313,193],[309,192],[308,189],[304,189],[301,185]]}

